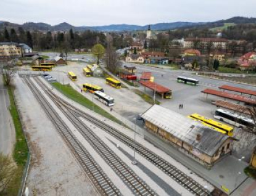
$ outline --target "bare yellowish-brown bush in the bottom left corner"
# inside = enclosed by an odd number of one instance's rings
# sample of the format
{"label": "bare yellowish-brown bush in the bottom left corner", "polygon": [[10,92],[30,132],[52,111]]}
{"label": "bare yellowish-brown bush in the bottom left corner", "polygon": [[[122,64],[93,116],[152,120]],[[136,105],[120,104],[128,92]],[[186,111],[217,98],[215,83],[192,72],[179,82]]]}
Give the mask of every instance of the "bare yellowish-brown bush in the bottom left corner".
{"label": "bare yellowish-brown bush in the bottom left corner", "polygon": [[0,195],[6,194],[6,190],[15,179],[18,167],[12,162],[12,159],[0,153]]}

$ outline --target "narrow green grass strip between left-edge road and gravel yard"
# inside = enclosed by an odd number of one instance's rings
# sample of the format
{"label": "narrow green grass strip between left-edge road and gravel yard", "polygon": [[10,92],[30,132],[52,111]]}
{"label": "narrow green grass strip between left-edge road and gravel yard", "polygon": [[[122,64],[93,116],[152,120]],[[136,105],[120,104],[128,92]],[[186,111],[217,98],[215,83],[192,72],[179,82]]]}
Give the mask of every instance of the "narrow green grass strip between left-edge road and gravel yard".
{"label": "narrow green grass strip between left-edge road and gravel yard", "polygon": [[16,133],[16,143],[14,147],[14,160],[17,165],[25,166],[28,158],[28,146],[25,136],[22,130],[22,123],[20,122],[20,117],[18,110],[15,105],[14,94],[12,92],[12,87],[7,86],[9,99],[10,99],[10,115],[14,121],[15,133]]}

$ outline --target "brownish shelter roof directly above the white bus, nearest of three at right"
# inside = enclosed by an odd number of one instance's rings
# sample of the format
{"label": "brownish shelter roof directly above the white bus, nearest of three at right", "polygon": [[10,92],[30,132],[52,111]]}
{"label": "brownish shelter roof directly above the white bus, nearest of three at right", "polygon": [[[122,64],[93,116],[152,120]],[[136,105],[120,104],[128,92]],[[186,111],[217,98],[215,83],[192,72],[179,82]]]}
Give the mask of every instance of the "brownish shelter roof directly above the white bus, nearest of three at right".
{"label": "brownish shelter roof directly above the white bus, nearest of three at right", "polygon": [[227,102],[225,100],[217,100],[216,102],[212,102],[212,104],[216,105],[217,107],[223,107],[223,108],[226,108],[228,110],[233,110],[234,112],[244,113],[246,115],[251,115],[250,108],[246,107],[244,105],[233,104],[233,103]]}

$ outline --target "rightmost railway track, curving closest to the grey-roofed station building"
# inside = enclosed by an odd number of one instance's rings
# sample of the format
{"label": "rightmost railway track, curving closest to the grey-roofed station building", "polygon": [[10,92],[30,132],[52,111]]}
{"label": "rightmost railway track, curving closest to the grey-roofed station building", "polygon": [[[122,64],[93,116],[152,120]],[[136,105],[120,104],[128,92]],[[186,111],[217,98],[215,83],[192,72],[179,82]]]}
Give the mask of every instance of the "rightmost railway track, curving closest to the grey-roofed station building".
{"label": "rightmost railway track, curving closest to the grey-roofed station building", "polygon": [[[37,79],[41,85],[44,86],[44,89],[47,88],[45,84],[43,84],[39,79]],[[103,129],[110,135],[117,138],[119,141],[126,144],[128,147],[131,147],[132,149],[135,149],[137,153],[139,153],[142,157],[146,158],[148,161],[151,161],[157,168],[161,169],[164,173],[166,173],[170,178],[174,179],[176,182],[178,182],[181,186],[183,186],[185,189],[189,190],[194,195],[200,195],[200,196],[207,196],[211,195],[209,190],[205,189],[203,186],[201,186],[199,183],[194,181],[191,177],[184,174],[180,169],[176,168],[175,166],[168,163],[168,161],[163,160],[163,158],[159,157],[159,155],[156,155],[151,150],[147,149],[143,145],[139,144],[138,142],[134,141],[130,137],[123,134],[121,131],[118,131],[117,129],[113,128],[112,126],[107,125],[103,121],[99,121],[94,116],[89,115],[89,113],[85,113],[82,110],[75,108],[73,105],[65,101],[64,99],[60,98],[56,94],[50,91],[45,91],[52,99],[56,99],[59,104],[65,105],[66,108],[69,110],[72,110],[74,113],[76,113],[78,116],[81,116],[85,118],[88,121],[91,121],[94,125],[97,127]]]}

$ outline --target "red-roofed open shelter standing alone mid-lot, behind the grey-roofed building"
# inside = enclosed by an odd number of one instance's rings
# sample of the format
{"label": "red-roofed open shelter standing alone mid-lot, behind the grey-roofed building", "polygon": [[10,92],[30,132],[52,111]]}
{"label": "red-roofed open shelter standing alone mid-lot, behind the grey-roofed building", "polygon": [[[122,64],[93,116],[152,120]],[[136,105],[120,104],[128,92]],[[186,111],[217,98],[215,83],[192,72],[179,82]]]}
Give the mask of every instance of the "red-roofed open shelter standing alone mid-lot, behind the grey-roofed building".
{"label": "red-roofed open shelter standing alone mid-lot, behind the grey-roofed building", "polygon": [[[146,87],[149,89],[152,89],[154,92],[157,92],[158,94],[160,94],[160,96],[165,97],[165,98],[170,98],[171,97],[171,90],[154,82],[151,81],[139,81],[139,83],[141,83],[144,86],[144,91],[146,91]],[[170,97],[166,97],[167,95],[169,95]]]}

